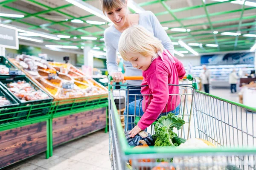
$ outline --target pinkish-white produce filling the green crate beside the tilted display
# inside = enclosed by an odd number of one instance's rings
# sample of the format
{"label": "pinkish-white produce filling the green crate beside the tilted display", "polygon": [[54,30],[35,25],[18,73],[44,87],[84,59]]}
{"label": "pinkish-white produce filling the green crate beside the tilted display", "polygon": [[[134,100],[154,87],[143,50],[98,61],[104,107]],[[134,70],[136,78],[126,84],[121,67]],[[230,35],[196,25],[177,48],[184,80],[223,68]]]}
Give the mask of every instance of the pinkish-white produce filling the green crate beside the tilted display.
{"label": "pinkish-white produce filling the green crate beside the tilted display", "polygon": [[7,83],[6,87],[18,98],[20,102],[49,99],[49,96],[35,88],[26,81]]}

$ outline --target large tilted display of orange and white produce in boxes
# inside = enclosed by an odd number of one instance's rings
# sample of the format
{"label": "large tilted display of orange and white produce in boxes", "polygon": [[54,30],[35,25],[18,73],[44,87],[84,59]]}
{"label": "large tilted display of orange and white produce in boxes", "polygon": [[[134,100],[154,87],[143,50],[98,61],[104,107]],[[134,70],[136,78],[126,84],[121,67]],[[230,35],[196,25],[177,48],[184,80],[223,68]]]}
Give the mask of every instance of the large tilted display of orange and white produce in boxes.
{"label": "large tilted display of orange and white produce in boxes", "polygon": [[[78,68],[69,63],[47,62],[44,59],[28,55],[20,55],[16,60],[10,61],[18,68],[23,69],[27,76],[55,99],[108,94],[106,88],[93,79],[87,79]],[[70,85],[67,87],[64,85],[65,83],[70,83]]]}

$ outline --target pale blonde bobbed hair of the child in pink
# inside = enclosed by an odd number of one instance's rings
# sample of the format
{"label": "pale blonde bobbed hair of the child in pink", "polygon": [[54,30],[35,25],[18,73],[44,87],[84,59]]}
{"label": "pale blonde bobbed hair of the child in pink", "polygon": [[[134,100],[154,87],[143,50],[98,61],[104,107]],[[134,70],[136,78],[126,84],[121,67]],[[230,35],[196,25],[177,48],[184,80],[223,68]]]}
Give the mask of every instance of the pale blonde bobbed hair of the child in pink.
{"label": "pale blonde bobbed hair of the child in pink", "polygon": [[124,60],[129,60],[129,53],[140,53],[143,56],[157,58],[158,51],[163,52],[163,45],[152,33],[144,27],[134,25],[123,31],[119,39],[119,53]]}

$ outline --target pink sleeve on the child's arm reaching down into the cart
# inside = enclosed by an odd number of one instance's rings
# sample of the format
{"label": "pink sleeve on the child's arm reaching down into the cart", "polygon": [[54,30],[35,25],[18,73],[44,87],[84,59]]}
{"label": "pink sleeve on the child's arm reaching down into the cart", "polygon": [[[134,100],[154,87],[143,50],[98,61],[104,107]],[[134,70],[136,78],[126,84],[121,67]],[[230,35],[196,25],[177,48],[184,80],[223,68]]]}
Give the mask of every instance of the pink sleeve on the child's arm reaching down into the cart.
{"label": "pink sleeve on the child's arm reaching down into the cart", "polygon": [[152,91],[153,99],[138,122],[138,126],[142,130],[154,123],[169,99],[168,75],[166,73],[154,71],[147,77],[147,82]]}

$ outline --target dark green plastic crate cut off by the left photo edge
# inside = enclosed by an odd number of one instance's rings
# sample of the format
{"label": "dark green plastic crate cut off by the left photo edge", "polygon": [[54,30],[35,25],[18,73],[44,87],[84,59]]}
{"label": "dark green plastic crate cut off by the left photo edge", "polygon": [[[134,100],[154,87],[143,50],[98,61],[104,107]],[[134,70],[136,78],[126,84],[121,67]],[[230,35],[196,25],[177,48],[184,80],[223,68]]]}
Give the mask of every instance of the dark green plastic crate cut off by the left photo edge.
{"label": "dark green plastic crate cut off by the left photo edge", "polygon": [[[3,87],[0,86],[0,96],[4,96],[8,99],[11,104],[0,106],[0,124],[13,122],[13,119],[9,119],[15,116],[14,113],[18,110],[18,106],[20,105]],[[16,107],[16,108],[15,108]]]}

